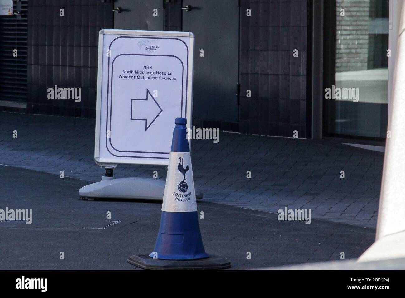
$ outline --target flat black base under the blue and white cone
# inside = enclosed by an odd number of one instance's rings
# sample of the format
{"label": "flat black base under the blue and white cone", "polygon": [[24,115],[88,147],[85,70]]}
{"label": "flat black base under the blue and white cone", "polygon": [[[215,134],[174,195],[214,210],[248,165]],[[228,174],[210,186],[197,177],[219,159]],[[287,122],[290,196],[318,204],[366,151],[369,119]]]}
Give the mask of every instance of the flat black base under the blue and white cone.
{"label": "flat black base under the blue and white cone", "polygon": [[163,260],[153,259],[149,255],[132,255],[128,257],[128,263],[150,270],[213,270],[230,268],[230,262],[227,259],[216,255],[209,255],[205,259],[197,260]]}

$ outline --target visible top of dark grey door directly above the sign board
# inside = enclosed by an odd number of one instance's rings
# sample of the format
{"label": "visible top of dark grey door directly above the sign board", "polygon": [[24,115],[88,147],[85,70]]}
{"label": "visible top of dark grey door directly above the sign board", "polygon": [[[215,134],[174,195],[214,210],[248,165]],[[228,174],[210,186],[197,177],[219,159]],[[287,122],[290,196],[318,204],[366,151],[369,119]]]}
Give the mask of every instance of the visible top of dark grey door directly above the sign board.
{"label": "visible top of dark grey door directly above the sign board", "polygon": [[114,28],[163,30],[162,0],[115,0]]}

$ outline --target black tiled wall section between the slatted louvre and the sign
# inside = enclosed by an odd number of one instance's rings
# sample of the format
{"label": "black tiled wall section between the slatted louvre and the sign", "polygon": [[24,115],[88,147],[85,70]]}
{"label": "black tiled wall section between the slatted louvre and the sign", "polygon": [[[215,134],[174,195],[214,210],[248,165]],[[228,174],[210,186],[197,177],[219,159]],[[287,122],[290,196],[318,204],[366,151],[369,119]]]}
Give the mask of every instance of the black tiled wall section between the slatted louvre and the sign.
{"label": "black tiled wall section between the slatted louvre and the sign", "polygon": [[[112,9],[113,1],[28,1],[30,113],[95,117],[98,32],[113,28]],[[81,102],[48,99],[55,85],[81,88]]]}

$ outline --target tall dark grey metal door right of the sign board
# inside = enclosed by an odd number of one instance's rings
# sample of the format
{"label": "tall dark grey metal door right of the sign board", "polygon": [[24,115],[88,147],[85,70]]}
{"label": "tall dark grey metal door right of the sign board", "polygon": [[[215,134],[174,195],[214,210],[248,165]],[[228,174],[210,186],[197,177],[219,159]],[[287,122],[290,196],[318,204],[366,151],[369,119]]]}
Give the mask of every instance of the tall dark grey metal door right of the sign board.
{"label": "tall dark grey metal door right of the sign board", "polygon": [[182,30],[195,35],[193,118],[238,121],[238,0],[183,0]]}

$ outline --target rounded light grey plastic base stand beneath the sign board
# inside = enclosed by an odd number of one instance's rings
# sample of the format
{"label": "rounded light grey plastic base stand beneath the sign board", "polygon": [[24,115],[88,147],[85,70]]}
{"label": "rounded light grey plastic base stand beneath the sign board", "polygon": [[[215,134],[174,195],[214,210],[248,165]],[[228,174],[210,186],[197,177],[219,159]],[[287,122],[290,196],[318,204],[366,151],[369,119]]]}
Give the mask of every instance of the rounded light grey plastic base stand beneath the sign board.
{"label": "rounded light grey plastic base stand beneath the sign board", "polygon": [[[103,176],[100,182],[79,189],[79,199],[144,199],[163,200],[166,180],[153,178],[115,178]],[[203,193],[196,191],[196,199]]]}

